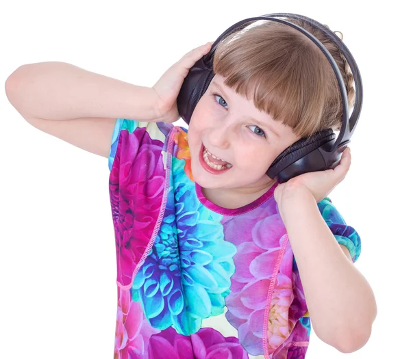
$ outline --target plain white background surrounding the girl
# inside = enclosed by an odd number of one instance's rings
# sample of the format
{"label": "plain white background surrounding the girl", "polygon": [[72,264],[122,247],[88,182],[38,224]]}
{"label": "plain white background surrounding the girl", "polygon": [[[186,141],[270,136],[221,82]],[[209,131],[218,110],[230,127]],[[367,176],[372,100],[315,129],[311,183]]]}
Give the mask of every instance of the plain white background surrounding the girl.
{"label": "plain white background surrounding the girl", "polygon": [[[379,313],[359,351],[342,354],[312,333],[307,358],[411,358],[405,8],[399,1],[284,3],[9,1],[0,8],[0,79],[23,64],[62,61],[151,86],[190,49],[243,18],[272,12],[303,14],[342,31],[360,68],[364,103],[351,170],[330,197],[362,237],[356,266],[373,287]],[[117,303],[108,159],[30,126],[4,90],[0,111],[0,357],[112,358]]]}

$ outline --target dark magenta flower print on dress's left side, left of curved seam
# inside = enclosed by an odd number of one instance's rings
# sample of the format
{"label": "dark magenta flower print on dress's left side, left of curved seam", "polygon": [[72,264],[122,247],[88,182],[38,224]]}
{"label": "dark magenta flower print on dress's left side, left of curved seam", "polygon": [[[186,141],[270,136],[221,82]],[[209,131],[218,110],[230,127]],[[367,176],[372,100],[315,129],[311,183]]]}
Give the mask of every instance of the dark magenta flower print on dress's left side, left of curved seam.
{"label": "dark magenta flower print on dress's left side, left of curved seam", "polygon": [[[125,148],[123,150],[123,148]],[[164,190],[163,143],[145,128],[122,131],[110,174],[110,200],[116,234],[117,280],[127,286],[154,230]],[[141,163],[145,163],[141,166]]]}

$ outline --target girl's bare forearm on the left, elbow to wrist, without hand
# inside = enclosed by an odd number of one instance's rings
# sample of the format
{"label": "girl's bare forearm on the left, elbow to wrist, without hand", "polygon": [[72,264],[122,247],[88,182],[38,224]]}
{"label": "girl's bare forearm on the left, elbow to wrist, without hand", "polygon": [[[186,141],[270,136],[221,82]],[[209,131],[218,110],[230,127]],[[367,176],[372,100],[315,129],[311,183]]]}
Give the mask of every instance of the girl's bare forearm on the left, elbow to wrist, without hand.
{"label": "girl's bare forearm on the left, elbow to wrist, without hand", "polygon": [[22,115],[48,120],[82,117],[153,120],[155,92],[65,62],[17,68],[5,83],[10,103]]}

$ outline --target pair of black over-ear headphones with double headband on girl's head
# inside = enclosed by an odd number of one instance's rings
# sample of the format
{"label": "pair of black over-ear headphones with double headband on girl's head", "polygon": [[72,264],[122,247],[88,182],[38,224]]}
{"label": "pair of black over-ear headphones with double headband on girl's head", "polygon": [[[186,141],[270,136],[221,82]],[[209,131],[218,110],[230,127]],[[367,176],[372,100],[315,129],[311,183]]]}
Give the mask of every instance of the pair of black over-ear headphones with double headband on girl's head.
{"label": "pair of black over-ear headphones with double headband on girl's head", "polygon": [[[306,23],[309,23],[313,27],[320,29],[325,35],[338,46],[341,53],[347,59],[347,62],[353,73],[354,83],[356,86],[356,103],[353,108],[351,117],[349,116],[348,98],[347,90],[345,88],[343,77],[341,76],[338,65],[334,61],[334,58],[329,53],[329,51],[323,46],[323,44],[312,34],[310,34],[305,29],[285,21],[280,18],[296,18]],[[295,29],[301,31],[303,34],[308,36],[314,44],[319,46],[321,51],[327,57],[329,63],[331,64],[336,77],[338,79],[338,87],[340,88],[341,98],[343,99],[343,124],[341,125],[340,133],[335,139],[336,134],[332,129],[325,129],[314,133],[311,137],[303,137],[297,142],[292,144],[289,148],[284,150],[271,164],[269,170],[266,174],[270,178],[275,178],[277,176],[277,181],[279,183],[284,183],[290,178],[299,176],[306,172],[314,172],[327,170],[329,168],[335,168],[341,159],[341,154],[343,150],[347,147],[350,142],[351,135],[356,128],[358,117],[360,116],[362,107],[362,81],[360,76],[360,71],[358,66],[353,59],[353,56],[347,49],[347,46],[343,44],[343,41],[334,34],[333,31],[329,30],[327,27],[312,20],[306,16],[288,13],[278,13],[278,14],[266,14],[262,16],[256,16],[252,18],[246,18],[245,20],[239,21],[238,23],[229,27],[219,38],[212,44],[210,52],[201,59],[199,59],[184,79],[182,88],[180,89],[179,95],[177,96],[177,108],[179,115],[183,120],[189,124],[192,112],[194,111],[197,103],[199,102],[201,96],[206,92],[208,85],[212,78],[214,77],[214,72],[212,70],[212,60],[214,58],[214,52],[216,46],[221,42],[225,36],[228,36],[233,31],[238,31],[244,29],[249,25],[249,23],[258,20],[271,20],[277,21],[278,23],[284,23],[290,25]]]}

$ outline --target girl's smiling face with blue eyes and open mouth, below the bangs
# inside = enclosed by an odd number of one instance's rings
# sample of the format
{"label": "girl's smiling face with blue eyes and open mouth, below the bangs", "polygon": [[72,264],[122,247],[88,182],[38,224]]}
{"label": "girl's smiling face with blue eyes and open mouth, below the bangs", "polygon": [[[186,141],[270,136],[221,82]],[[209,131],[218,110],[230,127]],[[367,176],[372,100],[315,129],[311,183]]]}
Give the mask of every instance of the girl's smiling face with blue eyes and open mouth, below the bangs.
{"label": "girl's smiling face with blue eyes and open mouth, below the bangs", "polygon": [[[260,112],[252,101],[227,88],[223,80],[214,76],[190,119],[192,176],[203,188],[259,191],[273,183],[266,171],[274,159],[299,138],[290,127]],[[204,160],[204,146],[232,167],[223,165],[219,170],[218,165],[208,165],[209,158],[219,161],[207,152]]]}

